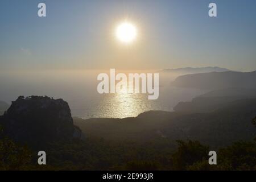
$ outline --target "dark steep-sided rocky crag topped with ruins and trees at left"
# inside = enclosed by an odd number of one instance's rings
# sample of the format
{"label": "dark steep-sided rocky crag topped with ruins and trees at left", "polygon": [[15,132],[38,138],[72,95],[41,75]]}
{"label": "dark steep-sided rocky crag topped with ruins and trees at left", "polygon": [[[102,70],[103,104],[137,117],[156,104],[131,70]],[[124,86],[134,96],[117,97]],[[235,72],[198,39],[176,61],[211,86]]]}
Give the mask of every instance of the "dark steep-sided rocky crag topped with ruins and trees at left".
{"label": "dark steep-sided rocky crag topped with ruins and trees at left", "polygon": [[20,96],[1,117],[0,123],[10,138],[25,143],[52,142],[79,138],[71,110],[62,99]]}

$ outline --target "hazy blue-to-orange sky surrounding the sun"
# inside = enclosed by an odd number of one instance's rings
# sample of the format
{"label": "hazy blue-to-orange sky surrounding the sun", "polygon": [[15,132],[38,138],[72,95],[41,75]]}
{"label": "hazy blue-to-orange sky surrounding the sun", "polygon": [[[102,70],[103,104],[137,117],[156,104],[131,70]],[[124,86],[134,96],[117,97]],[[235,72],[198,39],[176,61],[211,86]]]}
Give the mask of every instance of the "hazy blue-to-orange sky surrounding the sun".
{"label": "hazy blue-to-orange sky surrounding the sun", "polygon": [[[39,18],[38,3],[47,6]],[[208,16],[217,3],[217,18]],[[0,69],[256,70],[255,0],[1,0]],[[138,39],[119,43],[129,19]]]}

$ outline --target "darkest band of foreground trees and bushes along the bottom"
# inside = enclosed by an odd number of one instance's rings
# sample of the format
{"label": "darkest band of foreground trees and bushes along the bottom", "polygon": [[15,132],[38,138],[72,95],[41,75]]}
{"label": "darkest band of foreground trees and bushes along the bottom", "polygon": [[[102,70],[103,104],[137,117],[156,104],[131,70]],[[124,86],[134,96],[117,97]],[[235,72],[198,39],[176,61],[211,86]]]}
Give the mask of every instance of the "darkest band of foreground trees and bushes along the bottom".
{"label": "darkest band of foreground trees and bushes along the bottom", "polygon": [[[256,118],[253,119],[255,125]],[[102,138],[59,141],[45,146],[47,165],[38,166],[36,146],[28,149],[3,137],[1,170],[256,170],[256,142],[236,142],[217,151],[218,165],[208,164],[210,147],[198,141],[163,138],[147,143],[110,142]],[[174,148],[176,148],[174,150]]]}

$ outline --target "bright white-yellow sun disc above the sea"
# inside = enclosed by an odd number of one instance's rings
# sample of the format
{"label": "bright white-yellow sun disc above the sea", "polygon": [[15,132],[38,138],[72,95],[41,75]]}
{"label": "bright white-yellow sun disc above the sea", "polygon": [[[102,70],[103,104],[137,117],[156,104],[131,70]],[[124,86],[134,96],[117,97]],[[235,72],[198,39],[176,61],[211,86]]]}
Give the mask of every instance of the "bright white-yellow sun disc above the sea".
{"label": "bright white-yellow sun disc above the sea", "polygon": [[137,28],[129,22],[122,22],[117,26],[115,35],[122,43],[131,43],[137,38]]}

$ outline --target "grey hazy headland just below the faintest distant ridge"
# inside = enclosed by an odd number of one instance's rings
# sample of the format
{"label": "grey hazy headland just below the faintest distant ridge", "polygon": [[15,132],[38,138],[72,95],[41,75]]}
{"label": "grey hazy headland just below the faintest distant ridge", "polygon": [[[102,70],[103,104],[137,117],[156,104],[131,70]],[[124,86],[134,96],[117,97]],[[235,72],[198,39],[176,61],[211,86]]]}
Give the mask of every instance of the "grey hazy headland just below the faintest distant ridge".
{"label": "grey hazy headland just below the faintest distant ridge", "polygon": [[226,88],[255,89],[256,71],[254,72],[212,72],[179,76],[171,82],[172,86],[218,90]]}

